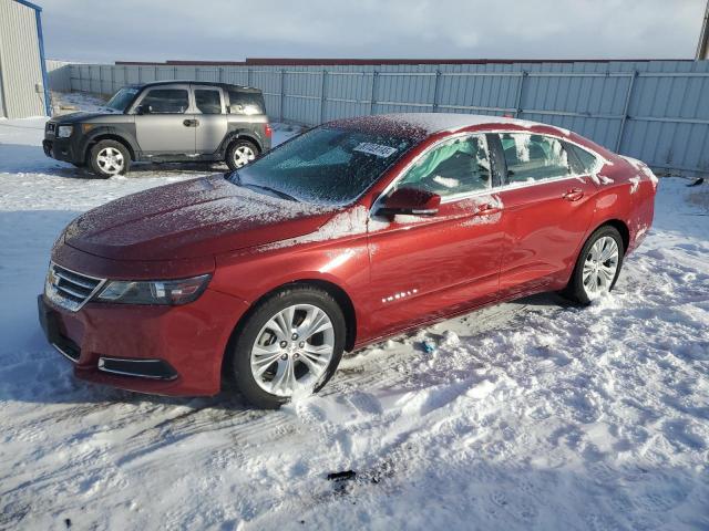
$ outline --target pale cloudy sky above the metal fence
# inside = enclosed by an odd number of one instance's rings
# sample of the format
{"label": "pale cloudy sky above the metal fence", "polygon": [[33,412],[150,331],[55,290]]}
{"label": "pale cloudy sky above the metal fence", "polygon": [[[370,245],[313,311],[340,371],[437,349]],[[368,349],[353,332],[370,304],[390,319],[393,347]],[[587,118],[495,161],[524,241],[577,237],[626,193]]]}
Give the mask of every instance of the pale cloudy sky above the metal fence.
{"label": "pale cloudy sky above the metal fence", "polygon": [[691,59],[705,0],[38,0],[47,55]]}

